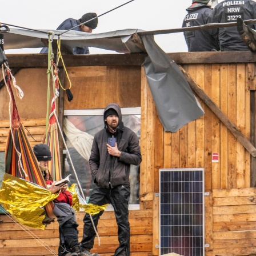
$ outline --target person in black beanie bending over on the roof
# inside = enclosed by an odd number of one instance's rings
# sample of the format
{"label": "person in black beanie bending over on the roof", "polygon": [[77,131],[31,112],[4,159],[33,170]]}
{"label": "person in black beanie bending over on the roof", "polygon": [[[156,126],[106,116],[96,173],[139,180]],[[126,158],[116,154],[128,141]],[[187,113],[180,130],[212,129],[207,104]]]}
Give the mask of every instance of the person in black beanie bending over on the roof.
{"label": "person in black beanie bending over on the roof", "polygon": [[[81,26],[75,27],[72,30],[76,30],[76,31],[80,31],[80,32],[86,32],[86,33],[92,33],[93,29],[96,29],[97,25],[98,25],[98,18],[96,13],[86,13],[82,16],[81,19],[73,19],[73,18],[69,18],[69,19],[65,19],[65,21],[63,21],[61,23],[61,25],[59,25],[57,27],[57,30],[69,30],[72,29],[75,26],[78,26],[79,24],[81,24]],[[95,19],[93,19],[95,18]],[[93,19],[92,21],[90,21],[90,19]],[[89,22],[86,22],[89,21]],[[83,22],[86,22],[85,24],[82,24]],[[44,47],[40,53],[48,53],[48,47]],[[73,48],[73,54],[77,55],[77,54],[90,54],[89,48],[87,46],[83,46],[83,47],[74,47]]]}

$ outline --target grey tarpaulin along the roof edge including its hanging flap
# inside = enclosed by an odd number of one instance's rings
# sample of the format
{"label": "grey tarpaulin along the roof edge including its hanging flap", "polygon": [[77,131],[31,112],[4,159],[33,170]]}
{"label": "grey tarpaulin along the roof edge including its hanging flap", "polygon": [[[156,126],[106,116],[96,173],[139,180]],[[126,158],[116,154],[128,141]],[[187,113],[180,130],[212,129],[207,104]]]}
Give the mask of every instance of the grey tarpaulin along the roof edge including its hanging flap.
{"label": "grey tarpaulin along the roof edge including its hanging flap", "polygon": [[[153,35],[143,35],[143,30],[126,29],[100,34],[62,30],[30,31],[10,29],[5,34],[5,49],[45,47],[49,35],[53,44],[61,35],[61,46],[69,53],[75,46],[98,47],[119,53],[147,52],[145,67],[147,82],[165,131],[175,132],[186,123],[203,115],[203,110],[178,65],[154,41]],[[139,33],[142,34],[139,34]],[[54,42],[55,41],[55,42]]]}

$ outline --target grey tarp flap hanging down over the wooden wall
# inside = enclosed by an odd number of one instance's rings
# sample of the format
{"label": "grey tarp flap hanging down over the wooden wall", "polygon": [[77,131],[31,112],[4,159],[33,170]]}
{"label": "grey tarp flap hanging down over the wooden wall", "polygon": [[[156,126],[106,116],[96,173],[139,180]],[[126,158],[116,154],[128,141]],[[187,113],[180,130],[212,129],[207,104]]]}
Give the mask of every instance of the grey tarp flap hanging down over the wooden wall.
{"label": "grey tarp flap hanging down over the wooden wall", "polygon": [[141,36],[149,57],[143,63],[147,82],[165,131],[174,133],[204,112],[178,65],[150,35]]}

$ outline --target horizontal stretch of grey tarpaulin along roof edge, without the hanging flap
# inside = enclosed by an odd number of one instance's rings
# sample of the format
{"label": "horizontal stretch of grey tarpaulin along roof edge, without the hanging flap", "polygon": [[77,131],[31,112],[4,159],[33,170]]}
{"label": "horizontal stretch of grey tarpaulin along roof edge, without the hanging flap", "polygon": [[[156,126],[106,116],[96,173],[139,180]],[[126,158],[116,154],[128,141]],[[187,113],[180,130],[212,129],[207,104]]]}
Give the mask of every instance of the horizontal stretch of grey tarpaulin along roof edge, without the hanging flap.
{"label": "horizontal stretch of grey tarpaulin along roof edge, without the hanging flap", "polygon": [[[132,35],[143,30],[125,29],[106,33],[90,34],[70,30],[61,35],[61,46],[72,49],[75,46],[96,47],[105,50],[117,51],[118,53],[141,53],[143,50],[132,41]],[[57,41],[58,35],[64,30],[26,30],[13,29],[4,33],[5,50],[21,48],[40,48],[48,46],[48,32],[53,34],[53,41]]]}

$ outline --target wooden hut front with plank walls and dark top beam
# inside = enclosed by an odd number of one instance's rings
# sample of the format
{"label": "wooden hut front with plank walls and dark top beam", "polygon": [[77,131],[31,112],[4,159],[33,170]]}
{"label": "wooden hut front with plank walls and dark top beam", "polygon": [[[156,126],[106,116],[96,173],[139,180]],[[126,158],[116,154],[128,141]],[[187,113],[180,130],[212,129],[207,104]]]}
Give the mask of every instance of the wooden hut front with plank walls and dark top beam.
{"label": "wooden hut front with plank walls and dark top beam", "polygon": [[[140,137],[142,163],[137,177],[138,202],[135,200],[131,203],[129,214],[131,256],[163,255],[165,249],[171,249],[171,246],[168,248],[165,245],[164,237],[171,241],[173,233],[165,235],[161,222],[161,207],[168,194],[165,197],[161,193],[163,190],[159,178],[161,171],[170,169],[203,171],[203,189],[199,191],[202,196],[199,207],[203,211],[188,214],[195,221],[197,217],[203,217],[203,242],[194,244],[201,247],[202,254],[194,255],[254,255],[256,55],[250,51],[168,55],[182,68],[204,110],[201,117],[174,133],[165,131],[142,66],[147,57],[142,51],[133,54],[64,55],[73,83],[71,91],[74,98],[69,102],[63,90],[60,90],[59,122],[63,127],[65,118],[69,116],[85,116],[86,119],[94,115],[95,111],[100,115],[110,102],[118,103],[128,114],[140,115],[141,127],[137,134]],[[31,146],[34,146],[41,142],[46,125],[47,55],[10,54],[7,59],[25,94],[22,101],[17,99],[16,103]],[[62,66],[59,69],[61,83],[67,88],[69,82],[65,72]],[[8,108],[9,96],[1,83],[1,159],[9,131]],[[131,109],[139,110],[139,113]],[[62,169],[65,170],[66,151],[61,141],[59,147],[63,159]],[[169,188],[172,189],[172,186]],[[180,205],[182,207],[186,203],[182,201]],[[193,201],[190,206],[194,207]],[[172,207],[170,205],[170,209],[174,209]],[[83,212],[77,213],[79,235],[82,235],[83,215]],[[2,215],[1,219],[1,255],[53,255],[47,247],[57,253],[57,222],[48,225],[46,230],[30,230],[38,237],[35,239],[8,215]],[[170,221],[166,226],[171,225],[173,223]],[[102,256],[112,255],[118,245],[118,238],[111,209],[103,213],[98,233],[101,245],[95,239],[92,251]],[[192,237],[179,234],[179,237],[186,236],[189,239]],[[175,251],[178,255],[193,255],[182,254],[182,247],[186,246],[184,239],[173,248],[180,249]]]}

